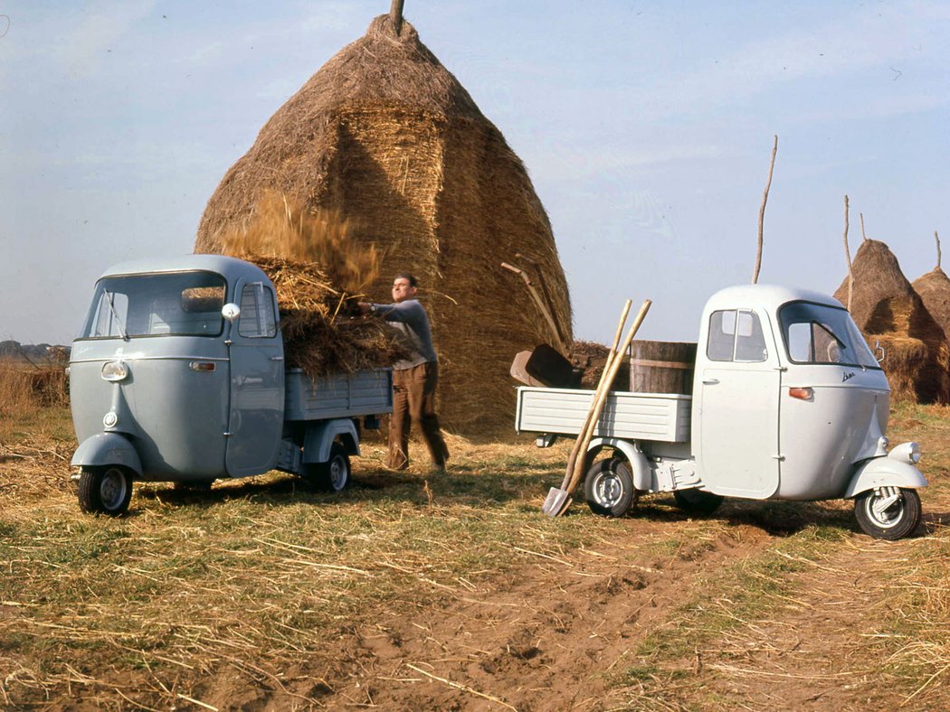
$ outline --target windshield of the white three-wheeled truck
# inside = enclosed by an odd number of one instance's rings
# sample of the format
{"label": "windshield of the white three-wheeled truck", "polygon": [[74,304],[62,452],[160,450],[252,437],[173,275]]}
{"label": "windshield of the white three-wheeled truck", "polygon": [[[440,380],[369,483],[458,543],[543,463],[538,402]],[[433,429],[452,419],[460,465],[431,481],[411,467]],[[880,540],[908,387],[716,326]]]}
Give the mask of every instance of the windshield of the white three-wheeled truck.
{"label": "windshield of the white three-wheeled truck", "polygon": [[778,316],[788,358],[796,364],[881,367],[846,309],[789,302]]}

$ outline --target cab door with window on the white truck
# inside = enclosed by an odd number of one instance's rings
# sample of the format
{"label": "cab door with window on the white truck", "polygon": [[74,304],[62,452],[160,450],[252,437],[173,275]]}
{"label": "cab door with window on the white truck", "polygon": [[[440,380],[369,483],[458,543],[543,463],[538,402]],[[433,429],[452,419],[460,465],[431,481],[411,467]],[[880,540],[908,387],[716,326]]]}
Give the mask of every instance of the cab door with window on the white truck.
{"label": "cab door with window on the white truck", "polygon": [[693,395],[699,398],[697,466],[718,495],[765,499],[778,489],[780,459],[781,371],[768,315],[712,311],[706,331]]}

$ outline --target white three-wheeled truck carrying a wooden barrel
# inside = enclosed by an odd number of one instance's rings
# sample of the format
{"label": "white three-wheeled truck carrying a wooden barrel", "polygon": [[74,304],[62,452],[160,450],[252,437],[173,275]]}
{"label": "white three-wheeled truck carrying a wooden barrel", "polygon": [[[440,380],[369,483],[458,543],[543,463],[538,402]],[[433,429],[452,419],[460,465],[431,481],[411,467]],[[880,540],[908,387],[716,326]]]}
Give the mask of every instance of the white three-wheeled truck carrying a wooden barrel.
{"label": "white three-wheeled truck carrying a wooden barrel", "polygon": [[[883,352],[881,352],[883,358]],[[611,392],[588,458],[591,509],[620,516],[644,493],[672,492],[710,514],[723,497],[853,498],[865,533],[911,534],[921,521],[921,451],[888,452],[890,388],[847,310],[807,290],[764,285],[712,295],[703,310],[693,392]],[[517,429],[540,446],[577,435],[592,391],[518,389]]]}

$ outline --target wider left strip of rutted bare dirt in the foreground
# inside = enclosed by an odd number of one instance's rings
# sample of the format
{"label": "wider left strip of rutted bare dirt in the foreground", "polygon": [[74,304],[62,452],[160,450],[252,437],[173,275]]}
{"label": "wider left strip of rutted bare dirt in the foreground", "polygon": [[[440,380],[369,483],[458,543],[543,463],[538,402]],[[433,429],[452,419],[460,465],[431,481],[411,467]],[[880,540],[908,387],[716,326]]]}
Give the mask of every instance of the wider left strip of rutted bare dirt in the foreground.
{"label": "wider left strip of rutted bare dirt in the foreground", "polygon": [[772,538],[730,525],[672,556],[637,561],[631,552],[642,559],[644,538],[668,538],[670,525],[629,524],[597,550],[536,556],[537,563],[477,590],[442,596],[408,616],[383,616],[346,636],[335,655],[342,665],[317,676],[333,689],[321,701],[389,709],[598,707],[624,653],[667,619],[695,577]]}

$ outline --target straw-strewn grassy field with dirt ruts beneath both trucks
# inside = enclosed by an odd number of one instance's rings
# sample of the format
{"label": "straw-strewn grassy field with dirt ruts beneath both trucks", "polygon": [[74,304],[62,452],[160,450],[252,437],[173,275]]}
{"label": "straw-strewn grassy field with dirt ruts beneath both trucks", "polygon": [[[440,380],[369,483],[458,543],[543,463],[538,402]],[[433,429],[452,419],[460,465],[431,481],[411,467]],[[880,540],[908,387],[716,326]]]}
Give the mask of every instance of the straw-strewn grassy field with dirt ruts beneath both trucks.
{"label": "straw-strewn grassy field with dirt ruts beneath both trucks", "polygon": [[66,406],[19,403],[0,409],[0,704],[947,708],[948,415],[892,417],[930,487],[918,535],[886,543],[847,503],[551,520],[570,443],[514,437],[450,437],[438,478],[386,472],[377,440],[341,495],[140,484],[128,516],[89,516]]}

